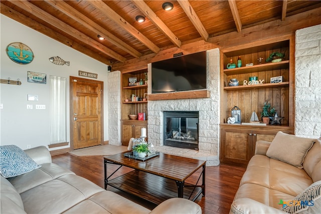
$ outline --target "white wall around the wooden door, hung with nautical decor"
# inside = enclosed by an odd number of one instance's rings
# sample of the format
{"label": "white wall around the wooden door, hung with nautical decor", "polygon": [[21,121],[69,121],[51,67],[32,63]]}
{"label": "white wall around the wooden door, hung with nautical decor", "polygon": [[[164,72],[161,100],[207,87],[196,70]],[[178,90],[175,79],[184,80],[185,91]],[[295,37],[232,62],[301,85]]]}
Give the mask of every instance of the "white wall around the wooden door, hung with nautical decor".
{"label": "white wall around the wooden door, hung with nautical decor", "polygon": [[[0,144],[16,144],[23,149],[27,148],[27,144],[31,144],[32,147],[49,144],[50,75],[67,78],[67,140],[70,142],[69,76],[78,76],[78,70],[98,73],[97,80],[104,81],[104,140],[108,140],[107,65],[3,14],[0,16],[0,23],[0,77],[10,77],[11,80],[19,78],[22,82],[21,85],[0,84],[0,103],[3,104],[3,109],[0,109]],[[8,44],[12,42],[28,45],[34,52],[34,60],[26,65],[12,61],[6,53]],[[49,61],[50,57],[57,55],[65,61],[70,61],[70,66],[56,65]],[[47,84],[28,82],[27,71],[46,73]],[[39,101],[28,101],[27,94],[38,94]],[[33,109],[27,110],[27,104],[32,104]],[[45,104],[46,109],[35,109],[36,104]]]}

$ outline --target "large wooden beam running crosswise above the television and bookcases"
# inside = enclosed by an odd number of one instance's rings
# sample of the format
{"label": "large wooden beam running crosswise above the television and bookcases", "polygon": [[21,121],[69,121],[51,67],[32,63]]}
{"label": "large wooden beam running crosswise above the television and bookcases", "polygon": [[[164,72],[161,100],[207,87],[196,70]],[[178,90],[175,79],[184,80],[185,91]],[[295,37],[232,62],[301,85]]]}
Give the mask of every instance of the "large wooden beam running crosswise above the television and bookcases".
{"label": "large wooden beam running crosswise above the television and bookcases", "polygon": [[[321,24],[321,7],[302,12],[299,14],[291,15],[285,21],[276,19],[267,23],[254,25],[244,28],[241,33],[236,31],[229,32],[222,35],[210,37],[207,42],[203,40],[182,44],[180,50],[187,52],[197,52],[219,47],[235,47],[236,45],[244,45],[248,41],[256,41],[257,43],[263,39],[271,39],[271,42],[278,36],[289,36],[297,29],[308,26]],[[197,50],[196,50],[197,49]],[[126,70],[134,71],[135,67],[143,66],[147,63],[172,58],[176,53],[177,47],[167,48],[159,51],[158,54],[148,54],[140,57],[139,59],[128,59],[125,63],[113,64],[113,70]]]}

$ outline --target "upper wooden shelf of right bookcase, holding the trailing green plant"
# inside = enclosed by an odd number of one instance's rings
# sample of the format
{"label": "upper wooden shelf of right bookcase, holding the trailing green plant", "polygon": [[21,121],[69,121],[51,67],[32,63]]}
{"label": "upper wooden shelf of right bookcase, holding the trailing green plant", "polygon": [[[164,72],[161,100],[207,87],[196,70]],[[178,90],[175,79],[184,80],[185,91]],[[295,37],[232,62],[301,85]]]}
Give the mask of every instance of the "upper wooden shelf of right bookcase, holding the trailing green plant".
{"label": "upper wooden shelf of right bookcase, holding the trailing green plant", "polygon": [[252,66],[224,69],[223,71],[226,75],[234,75],[234,74],[252,73],[252,72],[260,72],[260,71],[275,70],[275,69],[284,69],[288,67],[289,67],[289,60],[284,60],[280,62],[267,62],[264,64],[256,64]]}

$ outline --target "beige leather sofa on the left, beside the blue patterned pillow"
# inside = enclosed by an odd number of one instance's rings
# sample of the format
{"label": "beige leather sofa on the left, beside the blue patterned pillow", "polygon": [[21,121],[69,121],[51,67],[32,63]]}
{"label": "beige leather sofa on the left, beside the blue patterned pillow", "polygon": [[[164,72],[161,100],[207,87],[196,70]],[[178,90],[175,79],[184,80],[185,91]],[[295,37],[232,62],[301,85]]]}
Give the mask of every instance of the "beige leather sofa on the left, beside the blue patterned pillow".
{"label": "beige leather sofa on the left, beside the blue patterned pillow", "polygon": [[52,163],[45,146],[25,152],[42,166],[11,178],[1,176],[0,213],[202,213],[197,203],[184,198],[149,210]]}

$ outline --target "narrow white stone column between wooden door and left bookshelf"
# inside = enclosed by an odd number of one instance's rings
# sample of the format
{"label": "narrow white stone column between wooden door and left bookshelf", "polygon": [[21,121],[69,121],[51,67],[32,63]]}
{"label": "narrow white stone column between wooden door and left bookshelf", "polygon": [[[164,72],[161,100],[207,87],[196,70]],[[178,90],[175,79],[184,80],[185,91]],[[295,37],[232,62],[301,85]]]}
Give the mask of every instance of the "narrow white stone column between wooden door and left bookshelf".
{"label": "narrow white stone column between wooden door and left bookshelf", "polygon": [[120,134],[120,71],[108,73],[108,135],[109,144],[121,145]]}

